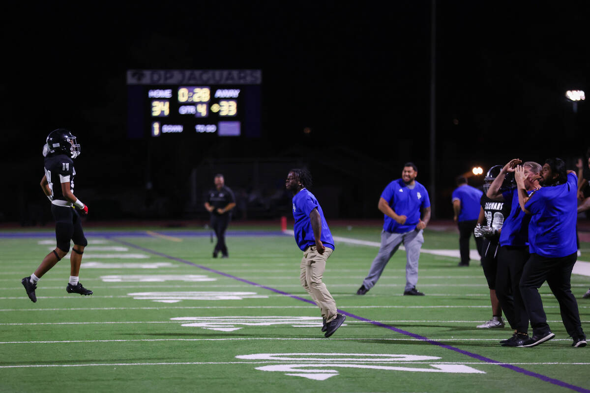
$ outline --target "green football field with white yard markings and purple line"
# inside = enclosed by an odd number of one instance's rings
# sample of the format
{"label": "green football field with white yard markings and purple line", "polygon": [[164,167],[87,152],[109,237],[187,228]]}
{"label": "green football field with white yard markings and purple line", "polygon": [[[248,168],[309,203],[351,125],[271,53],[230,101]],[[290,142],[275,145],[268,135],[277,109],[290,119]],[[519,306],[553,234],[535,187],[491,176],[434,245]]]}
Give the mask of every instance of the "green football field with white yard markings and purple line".
{"label": "green football field with white yard markings and purple line", "polygon": [[[53,229],[0,232],[0,392],[590,392],[590,347],[572,348],[548,286],[556,338],[504,348],[509,326],[475,327],[491,317],[489,291],[477,260],[457,267],[457,232],[425,230],[426,296],[402,296],[404,250],[355,295],[380,228],[332,232],[324,282],[346,321],[330,338],[299,283],[302,253],[278,226],[231,224],[228,259],[212,257],[201,228],[87,229],[80,282],[94,294],[65,291],[68,255],[38,283],[37,303],[20,280],[54,249]],[[572,275],[587,334],[589,287]]]}

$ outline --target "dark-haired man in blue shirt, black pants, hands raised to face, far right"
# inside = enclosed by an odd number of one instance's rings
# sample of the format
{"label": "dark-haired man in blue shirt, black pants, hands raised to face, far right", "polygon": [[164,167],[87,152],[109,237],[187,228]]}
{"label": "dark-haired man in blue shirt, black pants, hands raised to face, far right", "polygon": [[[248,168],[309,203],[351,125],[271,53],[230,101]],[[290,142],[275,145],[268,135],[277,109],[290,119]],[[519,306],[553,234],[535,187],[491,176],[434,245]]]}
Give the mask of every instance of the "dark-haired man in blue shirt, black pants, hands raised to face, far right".
{"label": "dark-haired man in blue shirt, black pants, hands raised to face, far right", "polygon": [[573,339],[572,346],[586,346],[578,303],[571,291],[573,264],[578,258],[576,217],[578,177],[565,170],[560,158],[548,158],[543,164],[543,186],[527,196],[525,171],[517,166],[514,172],[519,204],[531,214],[529,223],[530,258],[520,279],[520,293],[525,301],[533,336],[522,346],[535,346],[555,337],[547,323],[539,287],[546,281],[559,302],[563,326]]}

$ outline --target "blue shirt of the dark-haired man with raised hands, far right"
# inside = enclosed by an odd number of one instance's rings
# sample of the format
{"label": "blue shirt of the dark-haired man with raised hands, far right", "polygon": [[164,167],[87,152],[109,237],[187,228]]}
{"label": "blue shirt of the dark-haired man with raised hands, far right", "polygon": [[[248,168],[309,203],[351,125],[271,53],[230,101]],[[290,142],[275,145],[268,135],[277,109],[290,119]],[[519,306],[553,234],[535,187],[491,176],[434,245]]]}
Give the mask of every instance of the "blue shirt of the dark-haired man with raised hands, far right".
{"label": "blue shirt of the dark-haired man with raised hands, far right", "polygon": [[547,186],[531,194],[525,209],[532,214],[529,224],[529,252],[560,258],[576,252],[578,217],[578,176],[568,173],[568,181]]}

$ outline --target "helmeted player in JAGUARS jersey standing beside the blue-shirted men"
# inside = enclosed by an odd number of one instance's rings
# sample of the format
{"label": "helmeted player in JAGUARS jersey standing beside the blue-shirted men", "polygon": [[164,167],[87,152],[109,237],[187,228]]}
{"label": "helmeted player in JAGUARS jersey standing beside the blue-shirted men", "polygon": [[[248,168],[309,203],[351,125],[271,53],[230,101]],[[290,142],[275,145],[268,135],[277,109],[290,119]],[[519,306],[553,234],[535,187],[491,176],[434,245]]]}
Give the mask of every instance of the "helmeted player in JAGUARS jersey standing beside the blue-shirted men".
{"label": "helmeted player in JAGUARS jersey standing beside the blue-shirted men", "polygon": [[[496,297],[496,272],[498,269],[498,249],[500,247],[500,232],[504,219],[510,214],[510,204],[503,201],[491,200],[486,196],[490,184],[496,179],[496,176],[502,169],[501,165],[496,165],[487,171],[484,178],[484,194],[481,196],[480,216],[477,220],[474,234],[476,237],[483,237],[481,247],[481,267],[483,267],[484,276],[486,276],[487,286],[490,289],[491,301],[491,319],[487,322],[477,325],[477,328],[503,328],[502,308]],[[502,190],[509,189],[514,177],[504,179],[501,187]]]}

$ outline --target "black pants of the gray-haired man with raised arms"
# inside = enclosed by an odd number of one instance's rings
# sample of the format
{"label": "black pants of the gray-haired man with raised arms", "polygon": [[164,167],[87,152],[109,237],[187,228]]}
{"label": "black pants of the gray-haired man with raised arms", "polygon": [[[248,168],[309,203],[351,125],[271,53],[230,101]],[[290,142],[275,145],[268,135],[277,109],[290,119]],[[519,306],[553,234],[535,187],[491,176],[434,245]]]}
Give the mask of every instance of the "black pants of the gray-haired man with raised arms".
{"label": "black pants of the gray-haired man with raised arms", "polygon": [[526,313],[519,286],[529,256],[528,246],[501,246],[498,252],[496,297],[510,327],[519,333],[529,331],[529,315]]}

